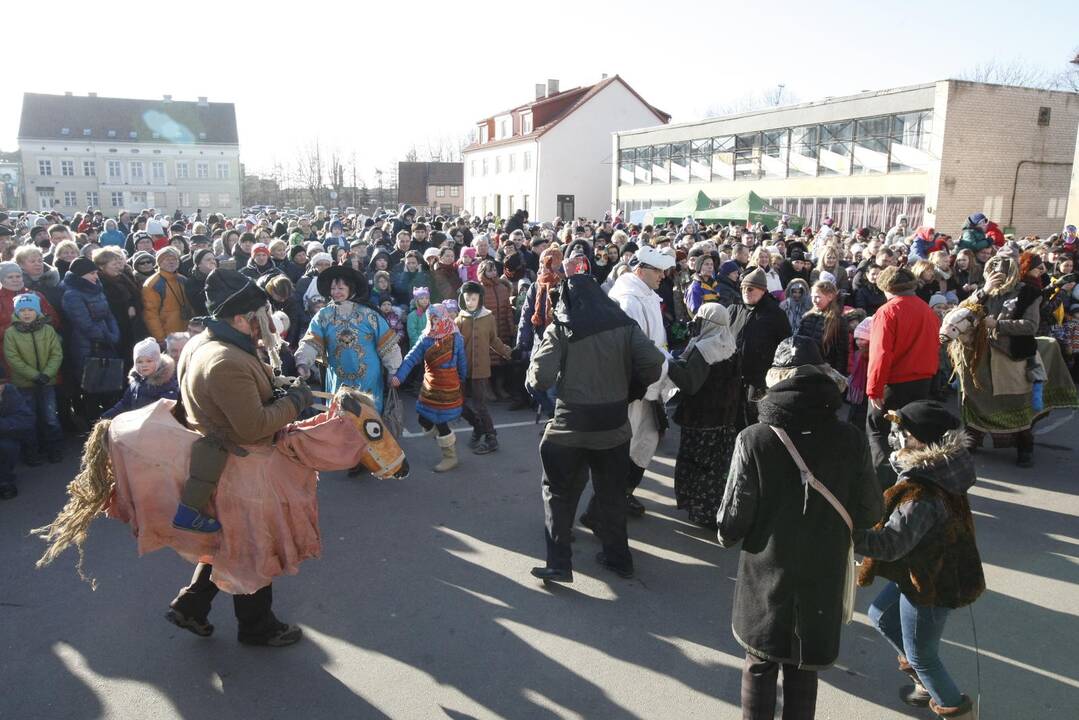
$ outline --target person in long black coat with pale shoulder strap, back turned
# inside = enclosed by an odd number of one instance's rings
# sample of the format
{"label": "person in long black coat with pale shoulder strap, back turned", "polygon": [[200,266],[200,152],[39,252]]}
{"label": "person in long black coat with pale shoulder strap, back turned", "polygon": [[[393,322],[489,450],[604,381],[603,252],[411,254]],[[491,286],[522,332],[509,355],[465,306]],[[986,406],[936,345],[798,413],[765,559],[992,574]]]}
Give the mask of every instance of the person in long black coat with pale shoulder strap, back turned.
{"label": "person in long black coat with pale shoulder strap, back turned", "polygon": [[855,529],[870,528],[880,517],[865,435],[836,419],[841,404],[838,385],[820,368],[797,367],[768,389],[760,402],[761,422],[735,440],[716,521],[723,547],[742,544],[732,628],[746,649],[741,706],[750,720],[775,716],[780,668],[783,718],[811,719],[817,673],[839,653],[850,530],[831,502],[806,484],[794,453]]}

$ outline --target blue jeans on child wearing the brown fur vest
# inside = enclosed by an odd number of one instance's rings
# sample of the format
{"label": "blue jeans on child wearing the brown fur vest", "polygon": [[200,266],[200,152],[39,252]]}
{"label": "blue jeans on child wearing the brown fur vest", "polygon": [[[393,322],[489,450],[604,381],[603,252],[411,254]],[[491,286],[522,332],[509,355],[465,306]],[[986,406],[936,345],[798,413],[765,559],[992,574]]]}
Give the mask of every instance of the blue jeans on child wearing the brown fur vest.
{"label": "blue jeans on child wearing the brown fur vest", "polygon": [[896,583],[888,583],[869,610],[877,631],[896,648],[896,652],[906,657],[933,702],[941,707],[956,707],[962,702],[962,693],[956,688],[938,652],[950,612],[947,608],[911,602]]}

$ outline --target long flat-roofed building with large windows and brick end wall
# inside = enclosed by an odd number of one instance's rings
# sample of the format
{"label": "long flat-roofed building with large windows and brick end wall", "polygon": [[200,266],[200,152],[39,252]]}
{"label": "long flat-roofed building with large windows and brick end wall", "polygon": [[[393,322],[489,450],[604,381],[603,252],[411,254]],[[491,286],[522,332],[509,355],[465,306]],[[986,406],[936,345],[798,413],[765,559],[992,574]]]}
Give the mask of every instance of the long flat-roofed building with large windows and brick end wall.
{"label": "long flat-roofed building with large windows and brick end wall", "polygon": [[1079,94],[958,80],[866,92],[616,133],[612,191],[624,214],[704,191],[754,191],[817,226],[957,233],[983,212],[1002,227],[1060,230]]}

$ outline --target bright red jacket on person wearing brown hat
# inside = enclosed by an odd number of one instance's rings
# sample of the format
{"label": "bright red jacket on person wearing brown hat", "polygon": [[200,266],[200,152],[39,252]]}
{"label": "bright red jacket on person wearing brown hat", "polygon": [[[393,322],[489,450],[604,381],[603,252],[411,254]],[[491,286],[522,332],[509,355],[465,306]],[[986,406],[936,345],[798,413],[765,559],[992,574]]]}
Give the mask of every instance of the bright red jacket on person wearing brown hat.
{"label": "bright red jacket on person wearing brown hat", "polygon": [[940,321],[919,297],[888,300],[873,314],[870,369],[865,394],[884,398],[884,386],[937,375],[940,366]]}

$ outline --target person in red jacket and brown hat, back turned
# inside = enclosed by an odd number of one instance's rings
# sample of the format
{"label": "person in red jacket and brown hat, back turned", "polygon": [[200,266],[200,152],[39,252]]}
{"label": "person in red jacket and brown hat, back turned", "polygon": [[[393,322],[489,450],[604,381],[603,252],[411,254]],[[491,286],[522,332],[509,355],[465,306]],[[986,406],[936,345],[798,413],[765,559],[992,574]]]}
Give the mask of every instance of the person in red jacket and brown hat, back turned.
{"label": "person in red jacket and brown hat, back turned", "polygon": [[888,464],[890,423],[885,413],[929,397],[940,367],[940,321],[915,296],[918,281],[906,268],[885,268],[877,276],[877,286],[887,301],[873,315],[865,433],[877,478],[887,489],[896,481],[896,473]]}

